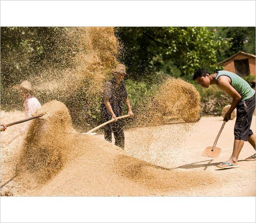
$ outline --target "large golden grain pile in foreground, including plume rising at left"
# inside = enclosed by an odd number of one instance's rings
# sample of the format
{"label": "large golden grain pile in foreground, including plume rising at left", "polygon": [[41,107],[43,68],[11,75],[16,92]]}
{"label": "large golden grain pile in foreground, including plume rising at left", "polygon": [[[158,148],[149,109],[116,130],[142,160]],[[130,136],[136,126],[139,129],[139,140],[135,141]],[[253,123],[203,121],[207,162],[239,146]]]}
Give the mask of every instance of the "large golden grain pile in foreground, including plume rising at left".
{"label": "large golden grain pile in foreground, including plume rising at left", "polygon": [[[160,168],[95,136],[78,134],[61,102],[48,102],[35,114],[44,116],[29,125],[18,176],[3,188],[11,187],[13,195],[145,196],[186,190],[188,185],[202,187],[218,180],[204,171],[191,174]],[[26,190],[16,191],[17,187]]]}

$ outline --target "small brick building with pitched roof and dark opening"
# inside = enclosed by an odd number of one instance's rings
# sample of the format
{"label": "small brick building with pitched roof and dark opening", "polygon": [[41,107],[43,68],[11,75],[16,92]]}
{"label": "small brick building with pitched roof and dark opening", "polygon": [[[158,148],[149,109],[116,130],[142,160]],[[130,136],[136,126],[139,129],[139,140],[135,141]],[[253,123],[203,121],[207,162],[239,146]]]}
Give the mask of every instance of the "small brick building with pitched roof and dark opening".
{"label": "small brick building with pitched roof and dark opening", "polygon": [[242,77],[255,75],[255,58],[255,55],[240,51],[221,61],[218,65],[223,66],[223,70],[236,73]]}

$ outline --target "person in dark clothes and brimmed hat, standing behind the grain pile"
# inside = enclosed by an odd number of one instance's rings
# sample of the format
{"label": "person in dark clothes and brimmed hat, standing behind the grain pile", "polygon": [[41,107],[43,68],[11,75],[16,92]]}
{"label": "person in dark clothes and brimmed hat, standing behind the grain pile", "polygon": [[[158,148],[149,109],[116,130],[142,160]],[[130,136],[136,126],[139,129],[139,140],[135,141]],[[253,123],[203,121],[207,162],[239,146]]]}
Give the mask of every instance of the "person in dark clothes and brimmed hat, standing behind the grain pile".
{"label": "person in dark clothes and brimmed hat, standing behind the grain pile", "polygon": [[116,117],[122,115],[124,102],[128,107],[127,114],[131,115],[130,117],[134,116],[123,82],[124,77],[128,77],[129,75],[126,73],[124,64],[118,64],[112,71],[112,74],[113,78],[104,85],[100,112],[103,122],[107,122],[113,118],[115,119],[115,122],[105,125],[103,128],[105,140],[112,142],[113,130],[115,145],[124,149],[124,123],[122,119],[117,120]]}

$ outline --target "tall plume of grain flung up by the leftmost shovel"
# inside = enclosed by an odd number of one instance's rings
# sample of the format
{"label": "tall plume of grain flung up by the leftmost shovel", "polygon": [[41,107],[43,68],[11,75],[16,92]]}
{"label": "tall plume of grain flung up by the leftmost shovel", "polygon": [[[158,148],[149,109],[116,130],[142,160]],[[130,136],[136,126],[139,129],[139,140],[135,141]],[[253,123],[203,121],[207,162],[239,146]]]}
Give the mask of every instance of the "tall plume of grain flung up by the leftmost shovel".
{"label": "tall plume of grain flung up by the leftmost shovel", "polygon": [[58,101],[46,103],[35,115],[44,116],[29,125],[17,171],[29,171],[37,182],[42,183],[67,162],[73,148],[70,139],[63,138],[62,134],[63,131],[72,132],[72,127],[68,109]]}

